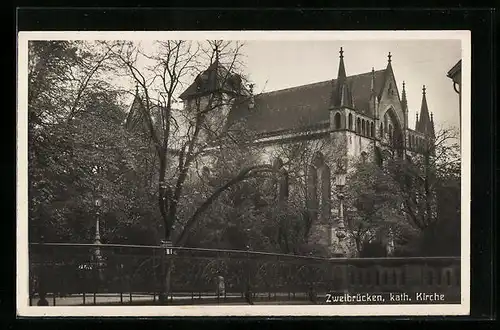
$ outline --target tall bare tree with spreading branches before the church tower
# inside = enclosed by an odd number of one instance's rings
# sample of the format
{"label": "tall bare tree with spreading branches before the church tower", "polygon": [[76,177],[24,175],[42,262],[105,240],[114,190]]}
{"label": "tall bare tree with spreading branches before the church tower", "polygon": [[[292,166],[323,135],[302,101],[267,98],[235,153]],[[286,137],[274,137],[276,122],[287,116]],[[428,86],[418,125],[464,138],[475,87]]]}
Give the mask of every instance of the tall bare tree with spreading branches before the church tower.
{"label": "tall bare tree with spreading branches before the church tower", "polygon": [[[167,40],[155,43],[154,54],[144,52],[131,42],[107,43],[117,60],[117,72],[136,83],[136,100],[142,116],[143,131],[150,138],[158,158],[158,205],[163,220],[164,238],[182,246],[200,215],[227,189],[257,173],[272,172],[269,165],[253,165],[227,182],[215,187],[187,220],[179,217],[184,189],[197,161],[210,158],[214,148],[237,143],[231,130],[220,123],[227,110],[249,95],[243,76],[235,74],[240,66],[242,44],[238,42]],[[152,63],[142,65],[140,62]],[[209,71],[206,68],[211,69]],[[201,69],[200,69],[201,68]],[[176,108],[181,88],[195,81],[196,97],[184,109]],[[155,94],[159,95],[155,98]],[[164,292],[169,291],[172,264],[165,269]]]}

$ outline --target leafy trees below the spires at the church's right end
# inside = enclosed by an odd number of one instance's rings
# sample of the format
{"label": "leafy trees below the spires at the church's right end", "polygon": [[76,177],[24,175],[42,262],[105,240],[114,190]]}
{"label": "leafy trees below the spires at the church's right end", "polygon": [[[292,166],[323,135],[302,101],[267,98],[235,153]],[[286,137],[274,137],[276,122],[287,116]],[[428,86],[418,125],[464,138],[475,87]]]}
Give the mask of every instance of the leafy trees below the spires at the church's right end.
{"label": "leafy trees below the spires at the church's right end", "polygon": [[452,129],[441,129],[428,148],[405,159],[386,158],[381,167],[358,164],[346,189],[348,229],[361,255],[368,242],[386,245],[384,237],[400,256],[460,254],[456,136]]}

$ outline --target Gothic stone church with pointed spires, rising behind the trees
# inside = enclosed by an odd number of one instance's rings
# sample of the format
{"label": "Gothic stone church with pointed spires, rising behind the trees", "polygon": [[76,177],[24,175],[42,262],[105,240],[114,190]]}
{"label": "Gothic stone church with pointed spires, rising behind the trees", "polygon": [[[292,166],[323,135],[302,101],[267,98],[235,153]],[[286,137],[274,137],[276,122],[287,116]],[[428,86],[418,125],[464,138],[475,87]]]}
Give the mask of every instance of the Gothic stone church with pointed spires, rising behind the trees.
{"label": "Gothic stone church with pointed spires, rising behind the trees", "polygon": [[180,95],[185,111],[214,92],[229,100],[209,118],[213,130],[252,131],[252,143],[262,147],[263,162],[273,163],[276,146],[294,141],[332,146],[330,156],[328,151],[315,151],[304,170],[311,240],[332,251],[343,239],[342,187],[353,162],[361,158],[382,164],[388,156],[411,157],[434,138],[425,86],[416,124],[410,127],[405,83],[400,93],[390,53],[385,68],[357,75],[347,74],[345,62],[341,48],[332,79],[254,95],[252,85],[243,86],[237,74],[215,60]]}

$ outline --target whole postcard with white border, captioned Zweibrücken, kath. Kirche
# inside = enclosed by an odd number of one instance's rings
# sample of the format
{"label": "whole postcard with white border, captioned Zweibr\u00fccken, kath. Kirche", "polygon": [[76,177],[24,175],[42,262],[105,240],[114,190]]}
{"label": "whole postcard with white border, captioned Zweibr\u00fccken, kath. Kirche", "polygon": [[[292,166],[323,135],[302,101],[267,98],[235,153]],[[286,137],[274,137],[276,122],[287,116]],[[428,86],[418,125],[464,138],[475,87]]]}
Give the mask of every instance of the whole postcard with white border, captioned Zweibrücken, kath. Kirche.
{"label": "whole postcard with white border, captioned Zweibr\u00fccken, kath. Kirche", "polygon": [[18,59],[19,315],[469,312],[467,31],[21,32]]}

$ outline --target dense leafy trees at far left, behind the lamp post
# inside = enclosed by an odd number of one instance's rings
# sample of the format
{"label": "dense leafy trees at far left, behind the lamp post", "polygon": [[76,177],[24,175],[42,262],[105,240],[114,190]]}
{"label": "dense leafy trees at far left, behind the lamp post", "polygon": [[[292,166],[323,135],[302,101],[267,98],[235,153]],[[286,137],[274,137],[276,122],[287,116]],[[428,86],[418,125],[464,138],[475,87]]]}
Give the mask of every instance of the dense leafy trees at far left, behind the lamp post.
{"label": "dense leafy trees at far left, behind the lamp post", "polygon": [[122,128],[119,94],[102,81],[106,53],[88,47],[29,45],[30,239],[92,242],[99,212],[105,240],[145,242],[155,225],[144,164],[154,159]]}

